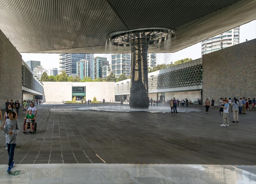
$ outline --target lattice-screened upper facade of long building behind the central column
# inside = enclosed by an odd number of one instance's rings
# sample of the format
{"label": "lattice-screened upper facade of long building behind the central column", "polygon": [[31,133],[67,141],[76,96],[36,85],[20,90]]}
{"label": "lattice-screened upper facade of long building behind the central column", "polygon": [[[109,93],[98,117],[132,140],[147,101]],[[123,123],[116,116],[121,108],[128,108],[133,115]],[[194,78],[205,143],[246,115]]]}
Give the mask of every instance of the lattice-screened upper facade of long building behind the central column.
{"label": "lattice-screened upper facade of long building behind the central column", "polygon": [[[148,74],[148,92],[187,91],[201,89],[203,82],[202,59]],[[129,94],[130,80],[116,82],[115,94]]]}

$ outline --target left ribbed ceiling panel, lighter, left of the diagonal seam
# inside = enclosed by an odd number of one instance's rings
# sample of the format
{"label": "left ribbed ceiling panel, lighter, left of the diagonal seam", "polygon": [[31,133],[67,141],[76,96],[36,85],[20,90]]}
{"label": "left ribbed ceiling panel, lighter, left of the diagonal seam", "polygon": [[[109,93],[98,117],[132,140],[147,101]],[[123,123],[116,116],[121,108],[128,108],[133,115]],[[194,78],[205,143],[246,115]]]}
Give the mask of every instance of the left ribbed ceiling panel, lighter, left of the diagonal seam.
{"label": "left ribbed ceiling panel, lighter, left of the diagonal seam", "polygon": [[20,52],[105,45],[109,33],[127,29],[106,0],[0,3],[0,29],[20,43]]}

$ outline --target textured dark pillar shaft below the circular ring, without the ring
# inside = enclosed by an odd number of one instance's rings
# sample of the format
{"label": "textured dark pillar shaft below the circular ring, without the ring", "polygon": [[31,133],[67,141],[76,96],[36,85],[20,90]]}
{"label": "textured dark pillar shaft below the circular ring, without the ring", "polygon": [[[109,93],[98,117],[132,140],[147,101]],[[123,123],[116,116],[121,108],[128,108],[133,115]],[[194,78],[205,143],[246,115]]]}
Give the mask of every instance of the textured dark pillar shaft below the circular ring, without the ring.
{"label": "textured dark pillar shaft below the circular ring, without the ring", "polygon": [[149,38],[144,33],[131,35],[131,108],[148,109],[149,106],[148,45]]}

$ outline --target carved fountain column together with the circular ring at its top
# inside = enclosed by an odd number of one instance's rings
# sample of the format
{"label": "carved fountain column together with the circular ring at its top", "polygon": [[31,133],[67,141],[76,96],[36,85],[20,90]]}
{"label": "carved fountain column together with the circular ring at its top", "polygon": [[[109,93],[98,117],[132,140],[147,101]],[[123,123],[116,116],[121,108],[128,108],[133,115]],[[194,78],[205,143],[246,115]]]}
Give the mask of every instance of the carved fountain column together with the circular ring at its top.
{"label": "carved fountain column together with the circular ring at its top", "polygon": [[166,43],[166,40],[174,37],[175,31],[167,28],[140,28],[107,36],[107,44],[131,48],[131,108],[148,109],[149,106],[148,46],[164,48],[171,43]]}

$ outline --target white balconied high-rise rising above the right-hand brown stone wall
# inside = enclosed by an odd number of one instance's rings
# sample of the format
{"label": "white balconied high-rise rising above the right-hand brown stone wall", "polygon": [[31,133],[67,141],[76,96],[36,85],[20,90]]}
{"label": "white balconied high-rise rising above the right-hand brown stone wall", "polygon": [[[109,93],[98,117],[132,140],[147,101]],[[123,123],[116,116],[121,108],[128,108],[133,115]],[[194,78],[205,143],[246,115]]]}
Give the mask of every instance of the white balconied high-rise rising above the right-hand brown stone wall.
{"label": "white balconied high-rise rising above the right-hand brown stone wall", "polygon": [[201,54],[208,54],[236,44],[239,44],[239,27],[202,41]]}

